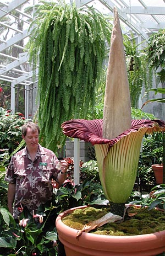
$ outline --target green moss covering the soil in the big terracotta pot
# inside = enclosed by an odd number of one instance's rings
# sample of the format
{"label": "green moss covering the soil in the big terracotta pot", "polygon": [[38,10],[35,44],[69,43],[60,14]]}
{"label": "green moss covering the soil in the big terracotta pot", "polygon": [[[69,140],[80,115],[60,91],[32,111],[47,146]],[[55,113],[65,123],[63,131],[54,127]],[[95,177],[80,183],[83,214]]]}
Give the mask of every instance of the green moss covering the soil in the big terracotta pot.
{"label": "green moss covering the soil in the big terracotta pot", "polygon": [[[101,218],[109,208],[95,209],[87,207],[82,210],[75,210],[72,214],[63,218],[65,225],[73,227],[76,230],[81,230],[85,224]],[[165,215],[164,212],[148,209],[131,209],[131,212],[137,212],[133,217],[125,217],[123,222],[107,223],[100,228],[91,231],[96,234],[106,234],[110,236],[134,236],[137,234],[148,234],[157,231],[165,230]]]}

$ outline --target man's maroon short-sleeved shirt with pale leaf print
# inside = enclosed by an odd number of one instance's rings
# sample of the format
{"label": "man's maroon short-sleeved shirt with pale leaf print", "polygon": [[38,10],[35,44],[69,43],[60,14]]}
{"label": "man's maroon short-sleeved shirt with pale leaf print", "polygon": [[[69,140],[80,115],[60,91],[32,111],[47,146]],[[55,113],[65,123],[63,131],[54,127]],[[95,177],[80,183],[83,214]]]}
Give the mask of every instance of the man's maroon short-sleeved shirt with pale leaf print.
{"label": "man's maroon short-sleeved shirt with pale leaf print", "polygon": [[39,144],[34,161],[26,147],[14,154],[5,175],[5,180],[15,184],[14,218],[18,218],[21,205],[26,206],[32,214],[41,204],[51,200],[51,180],[57,180],[59,173],[57,163],[56,155]]}

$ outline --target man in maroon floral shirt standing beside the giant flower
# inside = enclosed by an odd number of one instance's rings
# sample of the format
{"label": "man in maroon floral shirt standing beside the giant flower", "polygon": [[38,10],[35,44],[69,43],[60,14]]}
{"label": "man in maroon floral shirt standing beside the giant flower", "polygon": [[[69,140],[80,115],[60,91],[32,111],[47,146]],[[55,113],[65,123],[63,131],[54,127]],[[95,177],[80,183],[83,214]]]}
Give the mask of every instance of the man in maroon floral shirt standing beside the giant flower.
{"label": "man in maroon floral shirt standing beside the giant flower", "polygon": [[[8,185],[8,209],[15,219],[19,209],[25,206],[32,214],[41,204],[51,201],[52,178],[62,185],[67,178],[68,163],[60,162],[47,148],[38,144],[40,129],[34,122],[27,122],[22,127],[22,137],[26,147],[12,157],[5,180]],[[14,203],[14,206],[13,206]]]}

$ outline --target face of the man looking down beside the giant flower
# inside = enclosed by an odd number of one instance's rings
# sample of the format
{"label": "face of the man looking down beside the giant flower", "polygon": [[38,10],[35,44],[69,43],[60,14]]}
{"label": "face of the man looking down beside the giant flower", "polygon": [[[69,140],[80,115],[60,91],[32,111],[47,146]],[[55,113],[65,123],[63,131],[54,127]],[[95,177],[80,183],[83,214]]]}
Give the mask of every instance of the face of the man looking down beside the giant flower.
{"label": "face of the man looking down beside the giant flower", "polygon": [[26,136],[23,135],[28,150],[36,150],[38,147],[38,130],[32,132],[30,127],[27,127]]}

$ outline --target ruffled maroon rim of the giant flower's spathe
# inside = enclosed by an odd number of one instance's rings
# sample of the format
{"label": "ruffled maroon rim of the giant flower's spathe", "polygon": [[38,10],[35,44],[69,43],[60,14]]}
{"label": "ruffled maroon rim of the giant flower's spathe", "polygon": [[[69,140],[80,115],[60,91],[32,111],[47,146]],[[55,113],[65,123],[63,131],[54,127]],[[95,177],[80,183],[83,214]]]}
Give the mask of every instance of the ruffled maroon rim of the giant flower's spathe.
{"label": "ruffled maroon rim of the giant flower's spathe", "polygon": [[107,144],[112,147],[121,138],[130,134],[130,132],[136,132],[143,128],[148,128],[146,133],[152,134],[156,131],[165,131],[165,122],[162,120],[132,120],[131,128],[124,131],[118,137],[108,140],[103,138],[103,120],[85,120],[85,119],[72,119],[65,121],[62,124],[63,133],[71,138],[79,138],[80,140],[91,142],[95,144]]}

